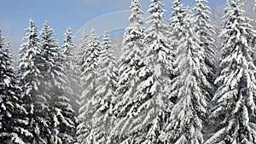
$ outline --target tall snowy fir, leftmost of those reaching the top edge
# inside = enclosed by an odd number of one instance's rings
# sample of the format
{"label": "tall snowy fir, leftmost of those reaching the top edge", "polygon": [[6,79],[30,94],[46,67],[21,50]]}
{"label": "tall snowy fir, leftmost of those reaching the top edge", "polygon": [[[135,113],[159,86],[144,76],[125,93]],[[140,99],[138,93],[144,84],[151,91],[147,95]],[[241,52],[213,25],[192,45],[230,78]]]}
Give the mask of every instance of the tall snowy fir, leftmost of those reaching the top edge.
{"label": "tall snowy fir, leftmost of those reaching the top edge", "polygon": [[[113,128],[113,138],[115,136],[123,137],[125,132],[121,132],[119,128],[125,123],[126,117],[131,115],[131,107],[134,104],[134,94],[137,90],[139,77],[139,69],[143,66],[143,11],[138,0],[131,1],[130,25],[125,29],[123,37],[123,54],[119,61],[119,80],[117,84],[116,95],[114,101],[114,113],[119,118],[119,124]],[[115,137],[115,138],[114,138]],[[120,138],[119,137],[119,138]]]}

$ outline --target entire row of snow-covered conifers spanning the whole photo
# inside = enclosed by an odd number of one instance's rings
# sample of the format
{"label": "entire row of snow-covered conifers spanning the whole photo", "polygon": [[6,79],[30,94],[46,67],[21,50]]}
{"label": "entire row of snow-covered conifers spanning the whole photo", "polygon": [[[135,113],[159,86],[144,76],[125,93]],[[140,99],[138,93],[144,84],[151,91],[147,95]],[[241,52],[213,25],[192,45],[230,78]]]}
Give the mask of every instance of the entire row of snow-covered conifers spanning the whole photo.
{"label": "entire row of snow-covered conifers spanning the whole photo", "polygon": [[131,0],[119,61],[108,32],[60,46],[30,20],[15,67],[0,29],[0,143],[255,144],[251,3],[227,0],[218,32],[207,0],[174,0],[169,24],[161,0],[145,19]]}

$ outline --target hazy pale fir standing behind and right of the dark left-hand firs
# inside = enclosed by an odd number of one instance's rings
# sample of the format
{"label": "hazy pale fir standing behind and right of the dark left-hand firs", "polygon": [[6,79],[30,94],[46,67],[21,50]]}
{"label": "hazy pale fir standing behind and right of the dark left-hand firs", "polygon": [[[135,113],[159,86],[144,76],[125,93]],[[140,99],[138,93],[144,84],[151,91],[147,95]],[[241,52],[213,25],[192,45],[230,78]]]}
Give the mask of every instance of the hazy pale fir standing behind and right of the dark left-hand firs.
{"label": "hazy pale fir standing behind and right of the dark left-hand firs", "polygon": [[70,103],[73,106],[75,115],[78,115],[79,112],[79,95],[80,95],[80,71],[79,71],[79,57],[75,53],[76,45],[73,42],[73,32],[71,27],[67,28],[67,31],[64,34],[64,44],[62,46],[64,54],[64,70],[67,76],[67,84],[65,86],[65,95],[70,99]]}

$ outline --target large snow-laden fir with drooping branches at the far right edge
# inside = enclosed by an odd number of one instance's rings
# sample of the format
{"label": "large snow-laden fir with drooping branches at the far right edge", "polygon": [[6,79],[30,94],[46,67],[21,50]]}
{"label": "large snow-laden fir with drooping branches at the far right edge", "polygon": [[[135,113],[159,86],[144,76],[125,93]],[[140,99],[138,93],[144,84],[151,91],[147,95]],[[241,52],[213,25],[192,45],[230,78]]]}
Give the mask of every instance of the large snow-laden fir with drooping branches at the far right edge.
{"label": "large snow-laden fir with drooping branches at the far right edge", "polygon": [[224,40],[221,72],[215,82],[219,87],[212,99],[216,103],[212,118],[221,118],[222,122],[207,144],[256,142],[256,124],[253,120],[256,110],[256,67],[252,59],[252,42],[256,31],[243,16],[241,7],[240,0],[231,0],[230,10],[225,11],[225,21],[229,22],[225,23],[220,33]]}

